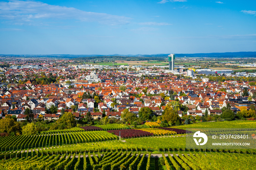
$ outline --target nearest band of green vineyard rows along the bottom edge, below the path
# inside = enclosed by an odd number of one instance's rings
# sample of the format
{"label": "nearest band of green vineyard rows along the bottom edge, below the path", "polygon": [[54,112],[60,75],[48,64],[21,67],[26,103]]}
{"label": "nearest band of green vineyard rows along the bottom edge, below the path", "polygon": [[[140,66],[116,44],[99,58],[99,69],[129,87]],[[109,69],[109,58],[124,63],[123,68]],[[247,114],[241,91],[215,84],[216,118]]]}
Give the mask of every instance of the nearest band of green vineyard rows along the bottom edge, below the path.
{"label": "nearest band of green vineyard rows along the bottom edge, below the path", "polygon": [[[189,152],[162,154],[151,152],[106,151],[53,153],[39,149],[0,155],[1,170],[220,170],[254,169],[252,154]],[[161,161],[161,159],[163,159]],[[235,162],[234,162],[235,160]]]}

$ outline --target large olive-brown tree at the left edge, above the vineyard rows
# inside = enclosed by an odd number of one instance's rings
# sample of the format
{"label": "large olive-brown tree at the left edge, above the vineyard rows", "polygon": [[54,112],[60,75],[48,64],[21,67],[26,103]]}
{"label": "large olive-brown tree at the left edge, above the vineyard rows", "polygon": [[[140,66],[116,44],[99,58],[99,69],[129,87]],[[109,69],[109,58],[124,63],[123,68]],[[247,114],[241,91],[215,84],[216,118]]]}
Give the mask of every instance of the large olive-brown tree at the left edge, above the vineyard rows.
{"label": "large olive-brown tree at the left edge, above the vineyard rows", "polygon": [[0,127],[0,133],[20,135],[20,124],[12,119],[10,115],[6,115],[4,119],[0,120]]}

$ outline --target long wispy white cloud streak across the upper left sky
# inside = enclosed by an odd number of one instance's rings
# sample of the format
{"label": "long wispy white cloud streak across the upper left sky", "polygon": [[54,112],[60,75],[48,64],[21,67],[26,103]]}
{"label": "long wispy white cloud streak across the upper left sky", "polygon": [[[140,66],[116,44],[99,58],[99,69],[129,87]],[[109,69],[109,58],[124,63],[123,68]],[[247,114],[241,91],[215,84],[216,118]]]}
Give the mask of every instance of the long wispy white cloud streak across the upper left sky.
{"label": "long wispy white cloud streak across the upper left sky", "polygon": [[76,8],[49,5],[39,1],[0,2],[0,18],[17,23],[33,22],[37,19],[76,19],[83,22],[99,22],[102,24],[127,24],[124,16],[107,13],[87,12]]}

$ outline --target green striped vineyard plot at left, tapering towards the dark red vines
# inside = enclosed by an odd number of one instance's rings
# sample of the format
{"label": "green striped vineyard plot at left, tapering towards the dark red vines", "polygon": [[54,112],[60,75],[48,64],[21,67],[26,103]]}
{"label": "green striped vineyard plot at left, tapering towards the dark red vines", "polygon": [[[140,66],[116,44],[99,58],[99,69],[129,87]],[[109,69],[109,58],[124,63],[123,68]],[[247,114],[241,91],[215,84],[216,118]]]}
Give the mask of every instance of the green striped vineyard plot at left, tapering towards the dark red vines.
{"label": "green striped vineyard plot at left, tapering towards the dark red vines", "polygon": [[80,131],[65,133],[55,131],[53,134],[49,133],[31,136],[19,135],[0,137],[0,149],[1,151],[18,150],[32,147],[57,146],[63,144],[102,142],[113,139],[117,139],[117,136],[106,131]]}

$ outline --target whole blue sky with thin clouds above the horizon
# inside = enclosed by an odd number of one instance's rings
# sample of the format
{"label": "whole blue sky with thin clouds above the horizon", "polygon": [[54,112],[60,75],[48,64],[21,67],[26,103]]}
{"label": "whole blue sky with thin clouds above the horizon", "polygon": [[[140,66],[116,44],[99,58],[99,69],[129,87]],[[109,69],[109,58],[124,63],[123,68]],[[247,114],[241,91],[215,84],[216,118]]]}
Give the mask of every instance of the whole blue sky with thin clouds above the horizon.
{"label": "whole blue sky with thin clouds above the horizon", "polygon": [[0,54],[256,51],[255,0],[0,0]]}

